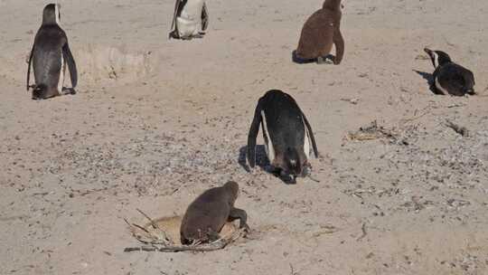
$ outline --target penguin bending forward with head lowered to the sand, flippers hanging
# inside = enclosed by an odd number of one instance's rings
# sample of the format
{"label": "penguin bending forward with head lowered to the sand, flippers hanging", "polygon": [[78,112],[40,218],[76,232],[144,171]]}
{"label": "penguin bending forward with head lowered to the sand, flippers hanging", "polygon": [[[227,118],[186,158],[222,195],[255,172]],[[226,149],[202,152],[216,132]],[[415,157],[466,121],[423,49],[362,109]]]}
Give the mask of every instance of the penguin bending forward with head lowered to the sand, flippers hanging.
{"label": "penguin bending forward with head lowered to the sand, flippers hanging", "polygon": [[310,145],[318,157],[314,132],[296,101],[281,90],[269,90],[258,100],[248,136],[249,166],[256,164],[259,126],[265,140],[271,172],[281,177],[306,176],[310,172]]}

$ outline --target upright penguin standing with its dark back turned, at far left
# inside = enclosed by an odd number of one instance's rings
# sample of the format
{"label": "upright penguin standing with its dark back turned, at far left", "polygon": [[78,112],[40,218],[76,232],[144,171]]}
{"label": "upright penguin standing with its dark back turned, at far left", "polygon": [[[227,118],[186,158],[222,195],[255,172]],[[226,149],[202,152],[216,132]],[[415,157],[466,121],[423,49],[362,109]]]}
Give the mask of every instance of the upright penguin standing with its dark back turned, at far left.
{"label": "upright penguin standing with its dark back turned, at far left", "polygon": [[[63,94],[66,64],[70,71],[70,93],[74,93],[78,72],[68,44],[68,37],[60,27],[61,6],[49,4],[42,12],[42,24],[37,31],[27,68],[27,90],[33,88],[33,100],[44,100]],[[31,66],[35,84],[30,85]]]}

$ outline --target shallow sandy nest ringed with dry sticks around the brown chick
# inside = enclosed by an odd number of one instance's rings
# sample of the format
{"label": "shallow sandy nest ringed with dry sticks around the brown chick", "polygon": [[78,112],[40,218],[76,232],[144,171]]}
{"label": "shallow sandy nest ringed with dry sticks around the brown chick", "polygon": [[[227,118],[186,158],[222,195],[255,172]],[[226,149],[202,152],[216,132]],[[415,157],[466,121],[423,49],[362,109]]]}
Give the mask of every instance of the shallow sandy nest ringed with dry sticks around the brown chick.
{"label": "shallow sandy nest ringed with dry sticks around the brown chick", "polygon": [[145,216],[148,223],[139,225],[136,223],[126,223],[132,236],[140,242],[140,246],[127,247],[125,252],[133,251],[157,251],[157,252],[179,252],[179,251],[217,251],[225,248],[232,242],[236,242],[240,237],[245,236],[244,229],[239,229],[234,223],[226,223],[221,232],[221,238],[214,242],[196,242],[191,245],[183,245],[180,242],[180,225],[182,216],[164,217],[152,219],[144,212],[137,209]]}

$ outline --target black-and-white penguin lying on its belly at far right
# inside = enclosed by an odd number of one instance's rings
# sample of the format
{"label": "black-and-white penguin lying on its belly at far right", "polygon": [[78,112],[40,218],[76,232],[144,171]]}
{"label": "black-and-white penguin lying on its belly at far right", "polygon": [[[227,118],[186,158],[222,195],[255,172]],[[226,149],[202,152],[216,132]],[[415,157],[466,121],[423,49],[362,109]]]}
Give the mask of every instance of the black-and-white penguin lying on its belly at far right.
{"label": "black-and-white penguin lying on its belly at far right", "polygon": [[474,74],[465,67],[451,61],[446,52],[424,49],[434,68],[432,90],[437,94],[453,96],[474,95]]}

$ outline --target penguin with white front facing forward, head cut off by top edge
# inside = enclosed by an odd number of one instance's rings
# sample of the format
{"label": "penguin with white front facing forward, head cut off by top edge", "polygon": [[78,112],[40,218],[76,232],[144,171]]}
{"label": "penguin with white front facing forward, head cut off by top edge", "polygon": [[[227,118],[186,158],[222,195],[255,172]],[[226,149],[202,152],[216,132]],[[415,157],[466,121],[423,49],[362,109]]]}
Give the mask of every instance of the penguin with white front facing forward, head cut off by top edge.
{"label": "penguin with white front facing forward, head cut off by top edge", "polygon": [[169,38],[202,38],[209,25],[205,0],[176,0]]}

